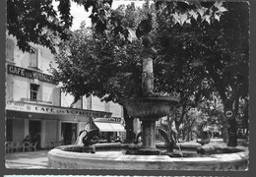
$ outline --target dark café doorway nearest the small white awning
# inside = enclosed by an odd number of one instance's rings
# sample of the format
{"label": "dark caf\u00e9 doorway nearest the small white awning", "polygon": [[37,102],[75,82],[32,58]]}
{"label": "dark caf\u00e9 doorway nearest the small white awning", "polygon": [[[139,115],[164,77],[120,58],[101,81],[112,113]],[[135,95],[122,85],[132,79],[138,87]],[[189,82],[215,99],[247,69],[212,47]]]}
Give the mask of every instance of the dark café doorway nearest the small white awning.
{"label": "dark caf\u00e9 doorway nearest the small white awning", "polygon": [[61,139],[64,145],[74,144],[77,140],[77,123],[61,123]]}

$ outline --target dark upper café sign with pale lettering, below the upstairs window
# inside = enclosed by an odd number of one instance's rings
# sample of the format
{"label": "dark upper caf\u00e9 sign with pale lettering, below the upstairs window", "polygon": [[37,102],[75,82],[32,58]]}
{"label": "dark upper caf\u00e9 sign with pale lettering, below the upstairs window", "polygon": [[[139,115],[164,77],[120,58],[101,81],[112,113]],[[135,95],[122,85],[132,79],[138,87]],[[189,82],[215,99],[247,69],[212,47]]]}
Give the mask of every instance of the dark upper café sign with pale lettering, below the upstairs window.
{"label": "dark upper caf\u00e9 sign with pale lettering, below the upstairs window", "polygon": [[25,69],[25,68],[13,66],[13,65],[7,65],[7,73],[20,76],[20,77],[29,78],[29,79],[35,79],[35,80],[50,83],[50,84],[55,84],[55,85],[57,84],[54,81],[53,76],[51,75],[46,75],[43,73],[39,73],[36,71],[32,71],[29,69]]}

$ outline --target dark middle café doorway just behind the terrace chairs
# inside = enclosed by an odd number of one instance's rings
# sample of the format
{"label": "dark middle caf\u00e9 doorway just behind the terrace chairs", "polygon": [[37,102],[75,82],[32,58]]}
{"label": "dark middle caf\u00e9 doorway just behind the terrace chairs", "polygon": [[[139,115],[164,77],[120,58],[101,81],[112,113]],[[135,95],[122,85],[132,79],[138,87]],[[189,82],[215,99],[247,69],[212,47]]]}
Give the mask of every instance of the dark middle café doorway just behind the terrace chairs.
{"label": "dark middle caf\u00e9 doorway just behind the terrace chairs", "polygon": [[41,121],[30,121],[30,136],[32,143],[36,143],[36,148],[40,148],[41,142]]}

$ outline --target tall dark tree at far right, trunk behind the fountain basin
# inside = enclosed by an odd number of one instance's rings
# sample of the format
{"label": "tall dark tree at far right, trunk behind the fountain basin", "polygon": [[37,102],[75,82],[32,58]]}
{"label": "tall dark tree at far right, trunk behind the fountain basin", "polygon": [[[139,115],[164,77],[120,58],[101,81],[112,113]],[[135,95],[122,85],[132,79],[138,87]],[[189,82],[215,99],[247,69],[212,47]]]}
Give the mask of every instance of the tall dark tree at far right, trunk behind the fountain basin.
{"label": "tall dark tree at far right, trunk behind the fountain basin", "polygon": [[[213,86],[221,95],[224,109],[231,108],[237,115],[240,98],[248,96],[249,11],[246,2],[230,3],[228,7],[228,13],[219,24],[223,33],[213,40],[221,45],[205,50],[209,55],[204,65],[214,81]],[[226,120],[227,146],[237,145],[236,126],[235,118]]]}

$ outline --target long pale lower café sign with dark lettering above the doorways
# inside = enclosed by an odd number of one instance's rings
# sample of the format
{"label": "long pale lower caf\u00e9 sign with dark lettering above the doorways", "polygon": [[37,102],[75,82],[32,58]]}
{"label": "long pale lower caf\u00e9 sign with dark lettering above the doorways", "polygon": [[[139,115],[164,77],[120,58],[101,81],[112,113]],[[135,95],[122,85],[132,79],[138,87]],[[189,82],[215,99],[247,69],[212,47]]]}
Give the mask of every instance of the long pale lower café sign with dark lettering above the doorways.
{"label": "long pale lower caf\u00e9 sign with dark lettering above the doorways", "polygon": [[54,107],[39,104],[28,104],[24,102],[6,102],[6,110],[32,112],[32,113],[44,113],[44,114],[57,114],[57,115],[75,115],[75,116],[92,116],[92,117],[104,117],[111,116],[110,112],[101,112],[93,110],[72,109],[65,107]]}

